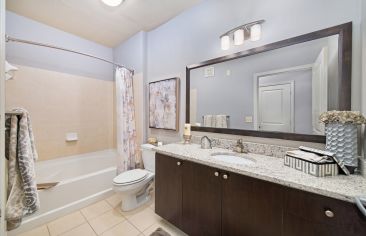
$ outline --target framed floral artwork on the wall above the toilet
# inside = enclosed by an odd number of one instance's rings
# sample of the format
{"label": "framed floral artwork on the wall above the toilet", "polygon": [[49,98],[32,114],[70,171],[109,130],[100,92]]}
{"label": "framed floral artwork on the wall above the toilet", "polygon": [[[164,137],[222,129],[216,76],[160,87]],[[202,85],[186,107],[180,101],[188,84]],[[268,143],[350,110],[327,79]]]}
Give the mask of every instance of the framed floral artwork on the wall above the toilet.
{"label": "framed floral artwork on the wall above the toilet", "polygon": [[178,131],[179,78],[149,83],[149,127]]}

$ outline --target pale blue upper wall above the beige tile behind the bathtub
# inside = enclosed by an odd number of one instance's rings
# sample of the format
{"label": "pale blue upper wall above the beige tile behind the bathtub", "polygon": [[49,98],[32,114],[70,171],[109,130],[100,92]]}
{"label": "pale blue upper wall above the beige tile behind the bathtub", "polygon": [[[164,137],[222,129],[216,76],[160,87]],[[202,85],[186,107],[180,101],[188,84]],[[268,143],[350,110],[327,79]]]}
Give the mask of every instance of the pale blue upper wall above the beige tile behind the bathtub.
{"label": "pale blue upper wall above the beige tile behind the bathtub", "polygon": [[[6,12],[6,33],[12,37],[53,44],[113,60],[113,50],[100,44]],[[71,73],[103,80],[113,80],[113,66],[81,55],[19,43],[6,44],[10,63]]]}

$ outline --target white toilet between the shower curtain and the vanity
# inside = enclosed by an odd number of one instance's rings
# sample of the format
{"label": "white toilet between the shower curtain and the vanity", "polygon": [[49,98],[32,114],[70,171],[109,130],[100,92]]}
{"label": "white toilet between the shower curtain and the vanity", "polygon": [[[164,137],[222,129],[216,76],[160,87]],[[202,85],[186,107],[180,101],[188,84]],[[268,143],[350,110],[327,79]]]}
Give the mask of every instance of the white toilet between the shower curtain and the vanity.
{"label": "white toilet between the shower curtain and the vanity", "polygon": [[153,145],[142,144],[141,153],[145,169],[125,171],[113,179],[113,189],[122,196],[122,211],[131,211],[150,200],[149,186],[155,177],[155,151]]}

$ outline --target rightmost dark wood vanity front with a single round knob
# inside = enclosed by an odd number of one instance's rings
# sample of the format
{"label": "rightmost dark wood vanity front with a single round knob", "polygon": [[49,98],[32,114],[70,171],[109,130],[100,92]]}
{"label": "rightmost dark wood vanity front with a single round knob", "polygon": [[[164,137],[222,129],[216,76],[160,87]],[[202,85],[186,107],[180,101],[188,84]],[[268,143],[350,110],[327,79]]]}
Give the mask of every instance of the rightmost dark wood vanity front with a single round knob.
{"label": "rightmost dark wood vanity front with a single round knob", "polygon": [[284,235],[366,235],[366,218],[355,204],[288,189],[284,206]]}

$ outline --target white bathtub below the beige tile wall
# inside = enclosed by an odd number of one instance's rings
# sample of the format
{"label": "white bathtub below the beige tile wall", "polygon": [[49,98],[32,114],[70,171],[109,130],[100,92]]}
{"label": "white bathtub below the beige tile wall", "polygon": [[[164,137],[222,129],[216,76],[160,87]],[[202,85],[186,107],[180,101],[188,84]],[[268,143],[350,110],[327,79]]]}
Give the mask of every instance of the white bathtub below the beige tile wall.
{"label": "white bathtub below the beige tile wall", "polygon": [[59,184],[38,191],[40,209],[25,217],[22,226],[9,235],[27,231],[112,195],[116,156],[116,151],[111,149],[36,162],[37,183]]}

